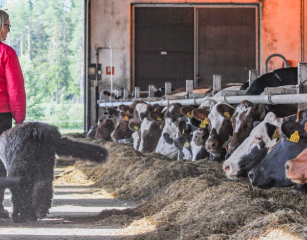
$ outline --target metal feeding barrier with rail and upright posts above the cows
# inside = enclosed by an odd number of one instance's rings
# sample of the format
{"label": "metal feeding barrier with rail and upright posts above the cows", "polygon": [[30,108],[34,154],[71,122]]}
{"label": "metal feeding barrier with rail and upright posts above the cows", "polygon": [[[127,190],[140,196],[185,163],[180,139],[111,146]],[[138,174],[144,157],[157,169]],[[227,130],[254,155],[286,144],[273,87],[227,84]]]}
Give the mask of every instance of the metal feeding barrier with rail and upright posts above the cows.
{"label": "metal feeding barrier with rail and upright posts above the cows", "polygon": [[[249,71],[249,85],[257,78],[257,70]],[[140,88],[135,88],[135,98],[118,99],[109,101],[97,101],[100,107],[117,107],[119,105],[130,105],[133,101],[144,101],[151,105],[159,104],[160,106],[169,106],[173,103],[182,105],[200,105],[207,99],[216,102],[224,101],[229,104],[238,104],[248,100],[254,104],[298,104],[298,110],[307,108],[307,63],[298,63],[298,80],[297,85],[282,87],[267,87],[264,95],[245,95],[246,90],[222,90],[221,75],[213,76],[212,93],[193,94],[193,80],[186,80],[186,94],[184,96],[173,97],[169,95],[171,83],[165,83],[165,96],[163,98],[153,97],[153,85],[148,86],[148,97],[140,98]],[[222,90],[221,96],[213,94]]]}

